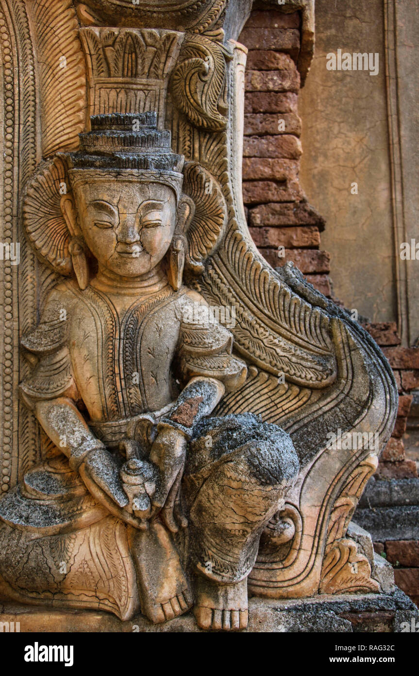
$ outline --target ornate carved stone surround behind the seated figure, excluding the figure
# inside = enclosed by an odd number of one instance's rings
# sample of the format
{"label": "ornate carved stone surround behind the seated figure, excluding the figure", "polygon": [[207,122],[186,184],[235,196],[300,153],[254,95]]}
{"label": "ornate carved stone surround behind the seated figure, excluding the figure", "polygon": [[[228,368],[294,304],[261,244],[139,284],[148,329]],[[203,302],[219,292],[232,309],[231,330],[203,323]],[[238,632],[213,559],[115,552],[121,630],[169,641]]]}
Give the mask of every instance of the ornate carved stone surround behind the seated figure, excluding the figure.
{"label": "ornate carved stone surround behind the seated figure, excluding the figure", "polygon": [[[159,128],[171,127],[173,149],[186,157],[183,191],[194,203],[186,233],[190,285],[210,304],[235,308],[234,349],[248,364],[246,382],[221,400],[217,413],[249,411],[278,423],[300,457],[300,476],[284,508],[291,535],[262,538],[249,587],[275,598],[378,591],[368,562],[345,533],[391,432],[397,390],[387,362],[359,325],[297,270],[275,272],[250,239],[240,173],[244,49],[223,37],[226,3],[1,0],[5,101],[11,106],[2,116],[2,241],[22,242],[19,274],[9,262],[3,267],[4,307],[16,312],[22,334],[35,323],[57,273],[72,274],[60,209],[66,167],[59,153],[78,147],[90,115],[156,111]],[[42,158],[50,159],[41,164]],[[12,186],[13,167],[20,180]],[[40,214],[51,237],[38,228]],[[24,241],[21,216],[40,264]],[[13,418],[12,400],[27,365],[21,360],[19,372],[18,332],[5,318],[3,491],[38,454],[32,416],[22,411],[20,420]],[[327,434],[338,429],[379,433],[379,448],[327,448]],[[130,599],[124,598],[128,612]]]}

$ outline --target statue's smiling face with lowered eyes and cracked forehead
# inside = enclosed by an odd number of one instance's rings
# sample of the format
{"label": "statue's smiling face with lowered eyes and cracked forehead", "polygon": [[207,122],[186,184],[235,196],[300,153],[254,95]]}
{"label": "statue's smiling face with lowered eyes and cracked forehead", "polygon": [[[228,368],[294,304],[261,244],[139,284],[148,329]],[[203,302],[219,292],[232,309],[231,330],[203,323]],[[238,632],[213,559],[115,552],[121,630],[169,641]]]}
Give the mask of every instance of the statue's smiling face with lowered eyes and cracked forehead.
{"label": "statue's smiling face with lowered eyes and cracked forehead", "polygon": [[168,186],[94,180],[76,187],[75,199],[82,235],[101,266],[134,277],[165,256],[176,224],[175,193]]}

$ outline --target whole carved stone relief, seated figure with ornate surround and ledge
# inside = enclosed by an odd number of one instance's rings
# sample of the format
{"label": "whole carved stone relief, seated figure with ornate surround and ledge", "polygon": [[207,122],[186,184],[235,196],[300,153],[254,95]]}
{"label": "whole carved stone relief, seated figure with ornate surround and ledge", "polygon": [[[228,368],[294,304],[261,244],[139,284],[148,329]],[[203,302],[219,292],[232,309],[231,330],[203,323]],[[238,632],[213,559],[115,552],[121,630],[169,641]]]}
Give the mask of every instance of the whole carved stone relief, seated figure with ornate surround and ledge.
{"label": "whole carved stone relief, seated figure with ornate surround and ledge", "polygon": [[[283,11],[305,78],[314,2]],[[249,13],[1,0],[0,588],[21,631],[352,631],[362,611],[399,631],[414,612],[350,525],[391,368],[246,224]]]}

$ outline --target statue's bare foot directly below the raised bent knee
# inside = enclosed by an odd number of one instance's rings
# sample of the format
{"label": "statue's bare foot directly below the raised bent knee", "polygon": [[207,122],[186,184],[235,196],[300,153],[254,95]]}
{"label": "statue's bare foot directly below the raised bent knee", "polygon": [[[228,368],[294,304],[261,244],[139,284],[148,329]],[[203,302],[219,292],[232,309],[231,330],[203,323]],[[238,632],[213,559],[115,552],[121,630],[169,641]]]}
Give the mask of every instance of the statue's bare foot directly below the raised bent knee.
{"label": "statue's bare foot directly below the raised bent knee", "polygon": [[200,629],[246,629],[249,619],[247,579],[233,585],[221,585],[199,575],[194,614]]}

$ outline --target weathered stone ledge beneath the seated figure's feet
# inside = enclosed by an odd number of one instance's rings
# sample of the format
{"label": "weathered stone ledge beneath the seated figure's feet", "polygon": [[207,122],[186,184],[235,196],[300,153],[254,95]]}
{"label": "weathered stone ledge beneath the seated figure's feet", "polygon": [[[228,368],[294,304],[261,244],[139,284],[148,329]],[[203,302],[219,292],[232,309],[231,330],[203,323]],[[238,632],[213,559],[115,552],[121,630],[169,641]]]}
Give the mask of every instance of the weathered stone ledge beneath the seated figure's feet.
{"label": "weathered stone ledge beneath the seated figure's feet", "polygon": [[[388,594],[344,594],[300,600],[249,600],[250,622],[243,633],[325,633],[352,631],[399,632],[401,623],[419,619],[418,608],[400,589]],[[3,622],[19,622],[21,633],[112,632],[198,633],[191,613],[161,625],[152,625],[142,615],[121,621],[94,610],[45,610],[13,604],[1,605]]]}

